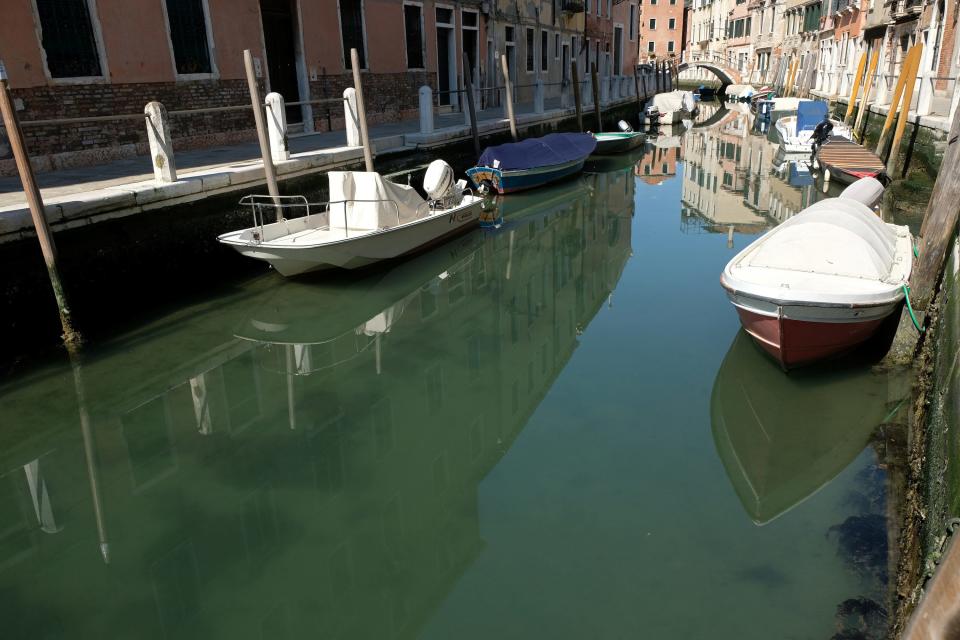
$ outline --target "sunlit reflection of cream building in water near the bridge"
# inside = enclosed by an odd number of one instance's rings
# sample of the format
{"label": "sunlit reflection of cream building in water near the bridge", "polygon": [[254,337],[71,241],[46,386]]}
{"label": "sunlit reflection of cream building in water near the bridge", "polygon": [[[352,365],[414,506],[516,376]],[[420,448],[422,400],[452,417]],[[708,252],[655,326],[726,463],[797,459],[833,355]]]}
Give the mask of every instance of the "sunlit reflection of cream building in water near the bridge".
{"label": "sunlit reflection of cream building in water near the bridge", "polygon": [[771,144],[750,134],[749,112],[716,103],[701,105],[701,112],[684,137],[682,224],[717,233],[769,227]]}

